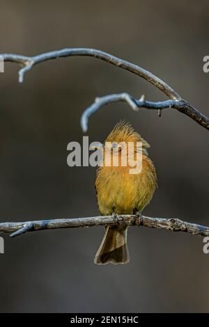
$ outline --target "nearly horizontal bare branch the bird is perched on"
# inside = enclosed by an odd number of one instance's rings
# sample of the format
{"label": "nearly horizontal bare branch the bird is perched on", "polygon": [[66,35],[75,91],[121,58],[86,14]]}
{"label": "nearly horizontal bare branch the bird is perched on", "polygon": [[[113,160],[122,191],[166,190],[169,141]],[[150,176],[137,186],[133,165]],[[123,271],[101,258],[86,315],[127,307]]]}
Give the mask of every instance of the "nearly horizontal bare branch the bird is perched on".
{"label": "nearly horizontal bare branch the bird is perched on", "polygon": [[209,236],[209,227],[187,223],[178,218],[151,218],[147,216],[95,216],[88,218],[49,219],[43,221],[25,221],[20,223],[0,223],[0,232],[13,232],[11,237],[25,232],[50,230],[54,228],[79,228],[104,225],[144,226],[147,228],[161,228],[173,232],[188,232],[201,236]]}

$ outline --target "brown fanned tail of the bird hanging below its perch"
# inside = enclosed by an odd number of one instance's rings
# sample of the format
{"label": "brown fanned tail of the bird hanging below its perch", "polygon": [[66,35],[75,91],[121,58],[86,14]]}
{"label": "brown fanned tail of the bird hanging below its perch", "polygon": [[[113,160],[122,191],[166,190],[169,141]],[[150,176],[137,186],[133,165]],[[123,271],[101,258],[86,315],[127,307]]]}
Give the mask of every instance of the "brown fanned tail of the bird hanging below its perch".
{"label": "brown fanned tail of the bird hanging below its perch", "polygon": [[107,226],[94,263],[127,264],[129,260],[127,226]]}

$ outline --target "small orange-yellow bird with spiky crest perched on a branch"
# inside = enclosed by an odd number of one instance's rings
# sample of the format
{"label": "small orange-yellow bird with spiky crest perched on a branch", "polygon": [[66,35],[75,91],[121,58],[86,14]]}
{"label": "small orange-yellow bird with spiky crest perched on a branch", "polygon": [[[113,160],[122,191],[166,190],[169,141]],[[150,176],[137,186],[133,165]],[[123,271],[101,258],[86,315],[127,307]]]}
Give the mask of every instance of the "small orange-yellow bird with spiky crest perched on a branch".
{"label": "small orange-yellow bird with spiky crest perched on a branch", "polygon": [[[139,150],[138,144],[142,148]],[[134,144],[134,158],[141,151],[141,172],[130,173],[129,161],[122,165],[124,155],[123,147]],[[109,145],[109,148],[106,145]],[[105,145],[105,147],[104,147]],[[150,147],[130,123],[121,121],[114,127],[102,146],[102,166],[98,167],[95,189],[98,198],[100,214],[137,214],[141,213],[153,198],[157,187],[157,177],[153,162],[148,158],[147,149]],[[127,147],[128,148],[128,147]],[[111,165],[105,165],[105,157],[109,149]],[[118,166],[113,165],[113,155],[118,151]],[[125,153],[125,154],[124,154]],[[95,255],[95,264],[127,264],[130,261],[127,249],[127,226],[109,226],[102,243]]]}

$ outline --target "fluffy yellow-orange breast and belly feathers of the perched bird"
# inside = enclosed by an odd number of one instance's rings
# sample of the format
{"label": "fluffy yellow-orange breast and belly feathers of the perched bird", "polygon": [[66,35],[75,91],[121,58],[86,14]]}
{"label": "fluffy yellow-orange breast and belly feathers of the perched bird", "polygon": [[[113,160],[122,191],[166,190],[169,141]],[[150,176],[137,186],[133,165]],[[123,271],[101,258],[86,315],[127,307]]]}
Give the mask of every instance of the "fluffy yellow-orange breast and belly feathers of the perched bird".
{"label": "fluffy yellow-orange breast and belly feathers of the perched bird", "polygon": [[146,155],[139,174],[130,174],[129,167],[100,167],[95,182],[100,214],[141,212],[153,198],[156,186],[155,168]]}

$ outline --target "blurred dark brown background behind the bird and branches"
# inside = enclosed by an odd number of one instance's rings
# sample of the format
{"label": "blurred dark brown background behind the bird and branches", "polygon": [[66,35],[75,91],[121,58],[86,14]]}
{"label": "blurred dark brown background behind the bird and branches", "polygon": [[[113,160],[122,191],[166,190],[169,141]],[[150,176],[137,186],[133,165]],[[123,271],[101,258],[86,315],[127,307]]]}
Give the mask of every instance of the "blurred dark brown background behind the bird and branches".
{"label": "blurred dark brown background behind the bird and branches", "polygon": [[[137,63],[209,115],[208,1],[2,1],[1,53],[34,55],[95,47]],[[165,99],[134,74],[94,58],[0,74],[1,221],[98,214],[95,168],[69,168],[67,144],[82,141],[79,119],[96,96],[127,91]],[[205,223],[208,131],[175,110],[133,112],[112,104],[92,116],[90,141],[126,118],[150,143],[159,189],[144,214]],[[191,234],[130,228],[131,262],[96,266],[104,229],[51,230],[5,239],[1,312],[209,312],[209,255]]]}

